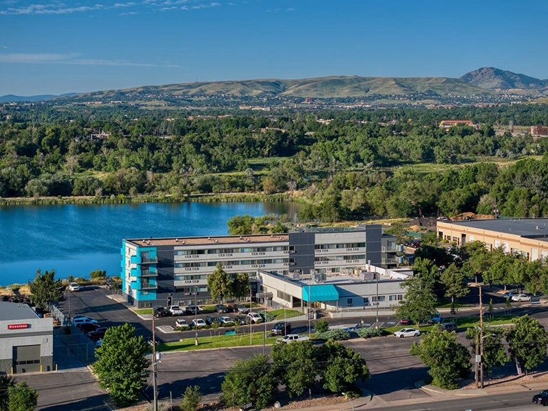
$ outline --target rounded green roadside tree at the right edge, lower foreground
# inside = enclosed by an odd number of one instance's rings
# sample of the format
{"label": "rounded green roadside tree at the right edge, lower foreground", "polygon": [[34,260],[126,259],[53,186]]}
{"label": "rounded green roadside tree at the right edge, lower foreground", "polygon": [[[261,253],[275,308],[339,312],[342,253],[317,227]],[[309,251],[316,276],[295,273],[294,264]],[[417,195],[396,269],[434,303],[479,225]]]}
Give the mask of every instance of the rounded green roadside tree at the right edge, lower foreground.
{"label": "rounded green roadside tree at the right edge, lower foreground", "polygon": [[514,323],[506,335],[510,358],[517,361],[525,374],[530,369],[542,364],[546,358],[548,336],[543,325],[527,314]]}

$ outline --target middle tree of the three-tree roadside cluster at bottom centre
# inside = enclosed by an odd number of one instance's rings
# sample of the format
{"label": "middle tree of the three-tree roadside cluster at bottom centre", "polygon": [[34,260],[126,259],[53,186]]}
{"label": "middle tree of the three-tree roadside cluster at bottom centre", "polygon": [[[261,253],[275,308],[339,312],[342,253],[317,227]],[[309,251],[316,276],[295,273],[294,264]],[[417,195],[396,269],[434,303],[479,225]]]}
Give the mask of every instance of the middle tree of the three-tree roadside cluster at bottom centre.
{"label": "middle tree of the three-tree roadside cluster at bottom centre", "polygon": [[285,384],[289,397],[302,395],[316,386],[318,349],[312,341],[273,345],[271,355],[276,375]]}

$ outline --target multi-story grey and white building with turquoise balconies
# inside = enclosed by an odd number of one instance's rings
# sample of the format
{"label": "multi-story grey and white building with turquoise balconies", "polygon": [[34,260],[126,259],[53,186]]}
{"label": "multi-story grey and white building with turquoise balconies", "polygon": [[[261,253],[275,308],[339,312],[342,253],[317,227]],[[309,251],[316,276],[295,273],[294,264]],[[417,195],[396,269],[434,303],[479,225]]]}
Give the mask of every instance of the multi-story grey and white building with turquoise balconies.
{"label": "multi-story grey and white building with turquoise balconies", "polygon": [[288,234],[134,238],[123,240],[122,290],[140,308],[211,301],[208,275],[216,264],[229,274],[257,271],[340,273],[373,265],[397,266],[395,237],[381,225],[299,229]]}

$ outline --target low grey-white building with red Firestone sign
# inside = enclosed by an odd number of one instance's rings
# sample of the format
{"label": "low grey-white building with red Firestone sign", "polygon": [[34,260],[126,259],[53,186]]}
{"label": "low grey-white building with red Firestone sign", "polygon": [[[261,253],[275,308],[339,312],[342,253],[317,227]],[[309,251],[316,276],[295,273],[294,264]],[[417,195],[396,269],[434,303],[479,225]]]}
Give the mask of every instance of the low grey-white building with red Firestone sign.
{"label": "low grey-white building with red Firestone sign", "polygon": [[0,373],[53,371],[53,319],[0,301]]}

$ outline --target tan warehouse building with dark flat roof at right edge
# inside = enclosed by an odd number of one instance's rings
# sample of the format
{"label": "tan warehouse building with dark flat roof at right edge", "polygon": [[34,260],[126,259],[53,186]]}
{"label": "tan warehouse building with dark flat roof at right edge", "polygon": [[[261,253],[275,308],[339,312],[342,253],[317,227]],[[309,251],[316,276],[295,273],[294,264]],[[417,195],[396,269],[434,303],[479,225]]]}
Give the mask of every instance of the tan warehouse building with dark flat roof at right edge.
{"label": "tan warehouse building with dark flat roof at right edge", "polygon": [[490,251],[502,247],[530,261],[548,257],[548,219],[438,221],[437,231],[457,245],[481,241]]}

